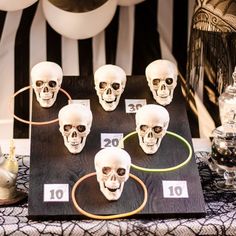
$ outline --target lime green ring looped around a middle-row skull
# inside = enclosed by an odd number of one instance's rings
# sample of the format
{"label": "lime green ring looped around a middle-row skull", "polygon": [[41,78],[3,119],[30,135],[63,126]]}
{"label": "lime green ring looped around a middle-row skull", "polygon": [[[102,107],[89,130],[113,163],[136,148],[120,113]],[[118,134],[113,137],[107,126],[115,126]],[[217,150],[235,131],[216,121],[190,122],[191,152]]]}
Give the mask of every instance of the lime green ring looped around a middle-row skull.
{"label": "lime green ring looped around a middle-row skull", "polygon": [[[175,138],[179,139],[180,141],[182,141],[185,144],[185,146],[187,147],[187,149],[189,151],[188,157],[185,161],[183,161],[182,163],[180,163],[176,166],[172,166],[172,167],[168,167],[168,168],[161,168],[161,169],[144,168],[144,167],[141,167],[141,166],[134,165],[132,163],[131,163],[131,167],[133,167],[134,169],[137,169],[137,170],[144,171],[144,172],[167,172],[167,171],[177,170],[180,167],[186,165],[190,161],[190,159],[192,157],[192,154],[193,154],[193,150],[192,150],[191,145],[181,135],[178,135],[178,134],[176,134],[174,132],[171,132],[171,131],[166,131],[166,133],[169,134],[169,135],[174,136]],[[124,141],[126,139],[128,139],[130,136],[132,136],[134,134],[137,134],[137,131],[134,131],[134,132],[131,132],[131,133],[127,134],[123,139],[120,140],[119,146],[122,144],[122,142],[124,143]]]}

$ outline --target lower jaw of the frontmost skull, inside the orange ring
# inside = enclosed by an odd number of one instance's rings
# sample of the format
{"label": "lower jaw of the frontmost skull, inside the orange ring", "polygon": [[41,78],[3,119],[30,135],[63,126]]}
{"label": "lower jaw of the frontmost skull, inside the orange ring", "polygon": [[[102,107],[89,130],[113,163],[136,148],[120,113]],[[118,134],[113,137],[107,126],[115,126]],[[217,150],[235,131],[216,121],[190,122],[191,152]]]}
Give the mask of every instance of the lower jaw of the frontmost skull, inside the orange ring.
{"label": "lower jaw of the frontmost skull, inside the orange ring", "polygon": [[109,201],[116,201],[120,198],[123,188],[124,182],[120,183],[118,187],[114,188],[109,186],[104,181],[99,181],[100,191],[103,193],[105,198]]}

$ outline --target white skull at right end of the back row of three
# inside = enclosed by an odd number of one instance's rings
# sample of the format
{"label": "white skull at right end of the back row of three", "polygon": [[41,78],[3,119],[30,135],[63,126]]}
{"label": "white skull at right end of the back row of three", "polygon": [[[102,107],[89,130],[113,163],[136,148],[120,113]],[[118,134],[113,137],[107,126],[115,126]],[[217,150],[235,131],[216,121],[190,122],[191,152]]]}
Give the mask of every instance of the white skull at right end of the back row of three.
{"label": "white skull at right end of the back row of three", "polygon": [[171,103],[177,85],[177,66],[168,60],[156,60],[145,70],[149,88],[157,103],[165,106]]}

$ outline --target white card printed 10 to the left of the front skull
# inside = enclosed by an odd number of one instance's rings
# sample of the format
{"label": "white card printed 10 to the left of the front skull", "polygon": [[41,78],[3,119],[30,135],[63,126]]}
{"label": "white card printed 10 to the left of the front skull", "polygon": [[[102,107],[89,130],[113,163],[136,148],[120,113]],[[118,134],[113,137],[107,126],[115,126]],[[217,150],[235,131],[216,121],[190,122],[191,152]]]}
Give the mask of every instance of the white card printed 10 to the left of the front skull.
{"label": "white card printed 10 to the left of the front skull", "polygon": [[68,184],[44,184],[44,202],[69,202]]}

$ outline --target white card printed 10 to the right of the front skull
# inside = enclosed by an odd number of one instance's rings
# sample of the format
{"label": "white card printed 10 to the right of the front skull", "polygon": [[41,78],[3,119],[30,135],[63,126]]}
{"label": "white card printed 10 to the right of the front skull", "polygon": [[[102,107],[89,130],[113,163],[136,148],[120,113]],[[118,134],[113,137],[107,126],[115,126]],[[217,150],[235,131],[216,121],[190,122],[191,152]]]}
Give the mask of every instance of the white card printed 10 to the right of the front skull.
{"label": "white card printed 10 to the right of the front skull", "polygon": [[162,180],[164,198],[188,198],[187,181]]}

